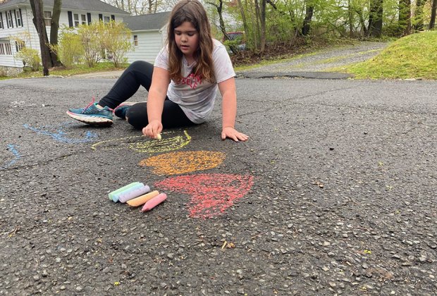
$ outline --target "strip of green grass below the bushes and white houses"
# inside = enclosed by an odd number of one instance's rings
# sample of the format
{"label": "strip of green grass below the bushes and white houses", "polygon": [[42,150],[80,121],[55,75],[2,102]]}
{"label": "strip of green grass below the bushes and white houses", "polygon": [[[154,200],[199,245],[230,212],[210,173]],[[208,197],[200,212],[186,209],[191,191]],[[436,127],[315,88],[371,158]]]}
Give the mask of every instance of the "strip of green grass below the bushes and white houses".
{"label": "strip of green grass below the bushes and white houses", "polygon": [[[66,68],[51,68],[49,69],[49,75],[53,76],[71,76],[71,75],[78,75],[78,74],[86,74],[86,73],[94,73],[94,72],[104,72],[104,71],[113,71],[113,70],[123,70],[127,68],[128,64],[123,64],[121,68],[116,68],[113,66],[113,63],[109,62],[102,62],[98,63],[97,66],[94,68],[88,68],[85,65],[77,65],[72,69],[66,69]],[[42,69],[37,72],[23,72],[15,77],[0,77],[0,80],[10,79],[10,78],[35,78],[35,77],[42,77]]]}

